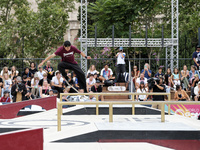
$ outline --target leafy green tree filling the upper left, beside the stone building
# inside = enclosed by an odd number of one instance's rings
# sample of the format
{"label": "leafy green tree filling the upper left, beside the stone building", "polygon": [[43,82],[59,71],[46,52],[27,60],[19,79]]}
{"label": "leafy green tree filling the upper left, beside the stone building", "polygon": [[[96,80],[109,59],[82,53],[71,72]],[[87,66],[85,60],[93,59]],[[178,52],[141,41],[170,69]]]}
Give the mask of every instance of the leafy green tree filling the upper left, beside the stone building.
{"label": "leafy green tree filling the upper left, beside the stone building", "polygon": [[41,58],[63,42],[73,0],[36,0],[36,12],[27,0],[4,1],[0,3],[1,10],[7,10],[7,3],[14,3],[8,7],[14,12],[1,14],[0,55]]}

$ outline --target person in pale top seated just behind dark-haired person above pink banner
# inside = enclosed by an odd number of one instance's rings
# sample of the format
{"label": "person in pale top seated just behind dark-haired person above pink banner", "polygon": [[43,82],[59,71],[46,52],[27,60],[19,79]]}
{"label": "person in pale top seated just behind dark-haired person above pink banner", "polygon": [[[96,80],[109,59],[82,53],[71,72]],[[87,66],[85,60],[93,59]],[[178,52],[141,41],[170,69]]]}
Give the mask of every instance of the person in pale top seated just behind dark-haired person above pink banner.
{"label": "person in pale top seated just behind dark-haired person above pink banner", "polygon": [[188,91],[188,88],[190,87],[188,79],[189,79],[189,71],[187,70],[187,66],[184,65],[183,70],[181,70],[181,81],[183,82],[186,91]]}

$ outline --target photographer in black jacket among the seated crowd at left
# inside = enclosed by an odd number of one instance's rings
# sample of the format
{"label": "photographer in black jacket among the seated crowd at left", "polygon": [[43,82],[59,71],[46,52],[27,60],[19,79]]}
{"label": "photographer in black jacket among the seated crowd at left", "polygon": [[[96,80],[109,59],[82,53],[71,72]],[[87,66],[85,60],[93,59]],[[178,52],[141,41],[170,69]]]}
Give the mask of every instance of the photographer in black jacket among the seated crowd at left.
{"label": "photographer in black jacket among the seated crowd at left", "polygon": [[26,100],[25,94],[27,93],[26,86],[22,83],[20,76],[17,77],[17,83],[11,88],[11,94],[13,96],[13,102]]}

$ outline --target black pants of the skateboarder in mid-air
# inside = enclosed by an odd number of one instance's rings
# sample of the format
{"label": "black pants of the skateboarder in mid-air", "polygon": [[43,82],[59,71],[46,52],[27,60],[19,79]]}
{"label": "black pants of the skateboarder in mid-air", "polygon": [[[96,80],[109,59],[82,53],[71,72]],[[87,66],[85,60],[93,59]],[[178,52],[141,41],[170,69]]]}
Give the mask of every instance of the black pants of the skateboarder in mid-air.
{"label": "black pants of the skateboarder in mid-air", "polygon": [[78,78],[80,89],[84,89],[84,92],[87,92],[85,74],[78,64],[72,64],[64,61],[58,64],[58,70],[62,73],[62,76],[66,78],[67,74],[65,69],[73,70],[75,72],[76,77]]}

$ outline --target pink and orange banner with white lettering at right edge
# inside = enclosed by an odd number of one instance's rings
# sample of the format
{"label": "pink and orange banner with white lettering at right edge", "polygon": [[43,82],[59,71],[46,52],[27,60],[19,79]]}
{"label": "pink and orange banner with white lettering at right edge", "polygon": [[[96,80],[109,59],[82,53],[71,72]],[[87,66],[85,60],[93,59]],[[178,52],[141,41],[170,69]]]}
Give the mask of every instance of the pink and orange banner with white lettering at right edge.
{"label": "pink and orange banner with white lettering at right edge", "polygon": [[[168,105],[165,105],[165,111],[168,111]],[[170,111],[172,114],[196,119],[200,115],[200,105],[170,105]]]}

